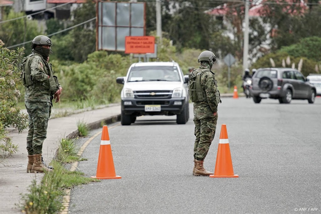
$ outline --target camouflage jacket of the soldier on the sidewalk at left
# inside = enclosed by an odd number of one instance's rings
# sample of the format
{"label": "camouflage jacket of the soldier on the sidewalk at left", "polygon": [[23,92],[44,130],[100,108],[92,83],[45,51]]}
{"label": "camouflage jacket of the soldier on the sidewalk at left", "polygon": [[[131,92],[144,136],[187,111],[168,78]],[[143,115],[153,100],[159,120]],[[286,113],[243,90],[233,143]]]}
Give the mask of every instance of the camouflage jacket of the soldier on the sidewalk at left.
{"label": "camouflage jacket of the soldier on the sidewalk at left", "polygon": [[[48,64],[47,61],[39,54],[34,53],[34,56],[31,57],[27,66],[30,66],[31,77],[39,82],[48,80],[48,75],[52,75],[51,65]],[[25,87],[25,90],[26,93],[24,95],[24,100],[27,102],[51,102],[51,91],[45,88],[31,85],[29,87]]]}

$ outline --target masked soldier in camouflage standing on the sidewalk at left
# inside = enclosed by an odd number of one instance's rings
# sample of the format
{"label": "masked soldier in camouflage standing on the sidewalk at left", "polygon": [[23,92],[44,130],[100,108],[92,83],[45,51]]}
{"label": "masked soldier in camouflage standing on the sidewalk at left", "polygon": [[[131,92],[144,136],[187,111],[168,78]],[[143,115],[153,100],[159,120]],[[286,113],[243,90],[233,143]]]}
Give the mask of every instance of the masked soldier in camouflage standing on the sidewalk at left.
{"label": "masked soldier in camouflage standing on the sidewalk at left", "polygon": [[48,64],[51,40],[44,35],[35,37],[31,43],[32,53],[22,60],[21,79],[25,86],[25,106],[29,114],[27,136],[27,172],[43,173],[52,171],[41,161],[42,144],[47,138],[47,126],[51,113],[52,99],[60,99],[62,87],[53,76]]}

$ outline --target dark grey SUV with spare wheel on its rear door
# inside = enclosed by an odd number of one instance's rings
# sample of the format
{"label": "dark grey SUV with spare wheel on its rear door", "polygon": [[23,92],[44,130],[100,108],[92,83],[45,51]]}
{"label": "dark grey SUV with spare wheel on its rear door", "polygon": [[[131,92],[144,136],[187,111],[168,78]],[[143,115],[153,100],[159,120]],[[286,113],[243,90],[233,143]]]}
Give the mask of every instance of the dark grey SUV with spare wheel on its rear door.
{"label": "dark grey SUV with spare wheel on its rear door", "polygon": [[255,103],[261,99],[278,99],[280,103],[290,103],[292,99],[307,99],[314,103],[316,88],[296,69],[260,68],[252,77],[250,87]]}

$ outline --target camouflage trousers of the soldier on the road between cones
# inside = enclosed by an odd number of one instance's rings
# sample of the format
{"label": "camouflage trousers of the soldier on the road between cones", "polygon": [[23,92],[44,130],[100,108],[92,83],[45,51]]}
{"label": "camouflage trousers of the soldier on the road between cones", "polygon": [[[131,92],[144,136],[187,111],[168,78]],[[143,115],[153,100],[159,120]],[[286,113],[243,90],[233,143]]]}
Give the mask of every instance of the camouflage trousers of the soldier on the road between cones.
{"label": "camouflage trousers of the soldier on the road between cones", "polygon": [[204,160],[214,139],[218,114],[194,113],[194,159]]}

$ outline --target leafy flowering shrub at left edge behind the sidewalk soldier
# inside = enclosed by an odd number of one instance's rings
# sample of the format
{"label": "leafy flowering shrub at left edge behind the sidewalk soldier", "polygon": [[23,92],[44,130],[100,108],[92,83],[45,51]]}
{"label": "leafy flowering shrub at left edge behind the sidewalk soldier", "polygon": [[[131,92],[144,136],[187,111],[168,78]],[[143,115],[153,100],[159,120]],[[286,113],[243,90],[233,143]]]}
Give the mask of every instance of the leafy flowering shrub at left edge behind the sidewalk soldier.
{"label": "leafy flowering shrub at left edge behind the sidewalk soldier", "polygon": [[11,139],[6,136],[5,128],[16,128],[19,133],[26,128],[28,115],[17,106],[20,91],[16,86],[21,84],[18,64],[22,58],[23,48],[9,50],[3,48],[0,39],[0,157],[5,158],[17,150]]}

